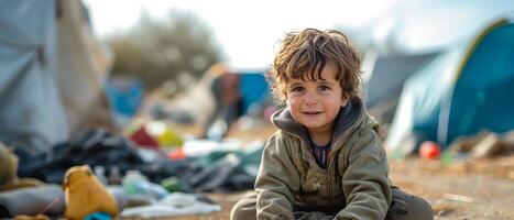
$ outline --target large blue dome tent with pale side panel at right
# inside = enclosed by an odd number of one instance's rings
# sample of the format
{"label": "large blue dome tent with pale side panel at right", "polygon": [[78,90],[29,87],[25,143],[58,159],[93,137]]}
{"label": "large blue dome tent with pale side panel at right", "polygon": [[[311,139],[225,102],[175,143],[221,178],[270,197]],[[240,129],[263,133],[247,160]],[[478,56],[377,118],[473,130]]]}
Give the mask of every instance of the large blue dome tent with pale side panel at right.
{"label": "large blue dome tent with pale side panel at right", "polygon": [[510,131],[513,95],[514,22],[502,19],[406,80],[386,147],[411,153],[426,140],[446,147],[481,130]]}

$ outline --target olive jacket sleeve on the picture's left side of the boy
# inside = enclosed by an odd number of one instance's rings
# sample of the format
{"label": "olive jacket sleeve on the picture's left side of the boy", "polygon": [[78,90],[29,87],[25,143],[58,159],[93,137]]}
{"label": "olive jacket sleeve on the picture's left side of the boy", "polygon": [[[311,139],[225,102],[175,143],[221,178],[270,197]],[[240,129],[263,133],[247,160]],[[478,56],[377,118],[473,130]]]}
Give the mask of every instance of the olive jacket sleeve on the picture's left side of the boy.
{"label": "olive jacket sleeve on the picture's left side of the boy", "polygon": [[262,154],[255,180],[258,219],[294,219],[294,191],[299,189],[299,174],[291,152],[275,133]]}

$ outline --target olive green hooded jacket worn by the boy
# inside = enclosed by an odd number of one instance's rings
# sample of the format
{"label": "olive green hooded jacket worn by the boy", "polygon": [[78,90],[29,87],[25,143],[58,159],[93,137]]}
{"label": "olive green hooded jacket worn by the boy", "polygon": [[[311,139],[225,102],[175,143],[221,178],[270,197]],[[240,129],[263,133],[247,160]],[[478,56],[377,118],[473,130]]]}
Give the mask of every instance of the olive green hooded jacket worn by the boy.
{"label": "olive green hooded jacket worn by the boy", "polygon": [[294,219],[295,207],[331,207],[336,219],[384,219],[391,182],[379,124],[360,100],[336,118],[327,168],[309,151],[308,133],[287,108],[275,112],[278,128],[264,147],[255,182],[258,219]]}

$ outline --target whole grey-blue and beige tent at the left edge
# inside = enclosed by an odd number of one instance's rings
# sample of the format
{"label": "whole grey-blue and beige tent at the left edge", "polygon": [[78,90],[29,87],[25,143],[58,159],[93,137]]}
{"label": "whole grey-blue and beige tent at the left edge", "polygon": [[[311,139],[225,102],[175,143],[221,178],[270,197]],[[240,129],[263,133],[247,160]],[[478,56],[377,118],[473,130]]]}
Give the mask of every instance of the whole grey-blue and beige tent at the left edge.
{"label": "whole grey-blue and beige tent at the left edge", "polygon": [[[109,125],[109,56],[79,0],[0,1],[0,141],[37,154]],[[107,112],[107,113],[102,113]]]}

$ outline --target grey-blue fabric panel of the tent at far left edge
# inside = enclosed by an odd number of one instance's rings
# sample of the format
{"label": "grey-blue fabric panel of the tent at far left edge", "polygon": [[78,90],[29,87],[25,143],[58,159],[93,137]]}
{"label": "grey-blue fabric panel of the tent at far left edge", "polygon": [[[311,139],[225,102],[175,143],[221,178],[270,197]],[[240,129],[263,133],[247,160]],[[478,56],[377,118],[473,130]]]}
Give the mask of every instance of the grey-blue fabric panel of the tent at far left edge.
{"label": "grey-blue fabric panel of the tent at far left edge", "polygon": [[0,2],[0,140],[45,153],[68,138],[55,81],[56,1]]}

